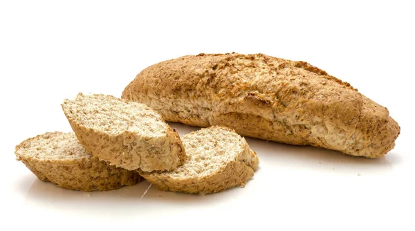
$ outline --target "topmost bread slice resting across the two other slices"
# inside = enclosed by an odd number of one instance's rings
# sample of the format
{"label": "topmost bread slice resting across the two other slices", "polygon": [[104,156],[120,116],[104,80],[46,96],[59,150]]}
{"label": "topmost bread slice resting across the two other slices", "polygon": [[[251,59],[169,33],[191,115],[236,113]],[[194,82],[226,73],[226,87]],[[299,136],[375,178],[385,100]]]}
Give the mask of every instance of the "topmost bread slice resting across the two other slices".
{"label": "topmost bread slice resting across the two other slices", "polygon": [[185,160],[178,133],[145,104],[80,93],[62,109],[85,149],[111,165],[151,172]]}

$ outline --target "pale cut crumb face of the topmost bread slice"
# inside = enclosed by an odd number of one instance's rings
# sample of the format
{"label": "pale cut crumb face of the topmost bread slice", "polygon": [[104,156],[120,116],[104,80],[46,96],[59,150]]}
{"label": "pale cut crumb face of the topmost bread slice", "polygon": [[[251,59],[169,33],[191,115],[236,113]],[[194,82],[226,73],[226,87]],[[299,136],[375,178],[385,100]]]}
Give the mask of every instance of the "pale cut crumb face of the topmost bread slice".
{"label": "pale cut crumb face of the topmost bread slice", "polygon": [[167,124],[145,104],[124,102],[111,95],[83,95],[65,100],[65,111],[79,124],[116,136],[125,131],[158,138],[165,136]]}

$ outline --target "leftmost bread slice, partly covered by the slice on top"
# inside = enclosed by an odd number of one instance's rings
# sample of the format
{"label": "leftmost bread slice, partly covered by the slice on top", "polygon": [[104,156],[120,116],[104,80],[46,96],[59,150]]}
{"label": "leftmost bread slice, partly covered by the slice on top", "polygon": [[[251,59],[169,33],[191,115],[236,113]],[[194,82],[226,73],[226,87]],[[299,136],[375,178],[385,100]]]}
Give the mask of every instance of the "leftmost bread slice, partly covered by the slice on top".
{"label": "leftmost bread slice, partly covered by the slice on top", "polygon": [[15,154],[40,180],[68,190],[116,190],[140,181],[137,172],[110,166],[86,152],[73,132],[29,138],[16,146]]}

